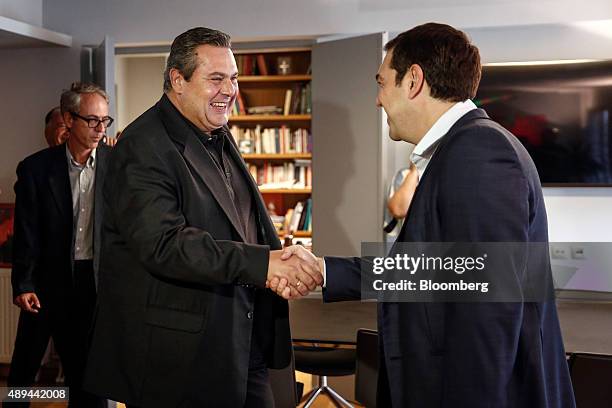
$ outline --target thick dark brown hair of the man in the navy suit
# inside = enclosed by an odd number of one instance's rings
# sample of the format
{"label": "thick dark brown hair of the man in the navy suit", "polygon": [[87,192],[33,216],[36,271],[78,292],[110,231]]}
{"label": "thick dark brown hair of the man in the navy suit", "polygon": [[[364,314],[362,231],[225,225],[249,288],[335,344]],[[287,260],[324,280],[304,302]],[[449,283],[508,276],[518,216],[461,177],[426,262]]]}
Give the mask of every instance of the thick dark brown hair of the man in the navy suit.
{"label": "thick dark brown hair of the man in the navy suit", "polygon": [[385,45],[393,52],[391,68],[402,83],[408,68],[421,67],[431,96],[459,102],[476,96],[481,65],[478,48],[463,31],[446,24],[427,23],[399,34]]}

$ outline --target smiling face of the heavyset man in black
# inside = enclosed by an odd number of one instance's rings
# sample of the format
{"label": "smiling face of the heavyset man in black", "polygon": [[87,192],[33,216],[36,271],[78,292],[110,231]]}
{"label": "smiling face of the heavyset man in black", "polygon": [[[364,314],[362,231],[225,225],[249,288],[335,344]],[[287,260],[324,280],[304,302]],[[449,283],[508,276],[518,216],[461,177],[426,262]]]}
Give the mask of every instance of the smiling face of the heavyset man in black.
{"label": "smiling face of the heavyset man in black", "polygon": [[229,48],[200,45],[197,67],[186,80],[178,70],[171,72],[171,98],[177,109],[204,132],[224,126],[238,93],[238,68]]}

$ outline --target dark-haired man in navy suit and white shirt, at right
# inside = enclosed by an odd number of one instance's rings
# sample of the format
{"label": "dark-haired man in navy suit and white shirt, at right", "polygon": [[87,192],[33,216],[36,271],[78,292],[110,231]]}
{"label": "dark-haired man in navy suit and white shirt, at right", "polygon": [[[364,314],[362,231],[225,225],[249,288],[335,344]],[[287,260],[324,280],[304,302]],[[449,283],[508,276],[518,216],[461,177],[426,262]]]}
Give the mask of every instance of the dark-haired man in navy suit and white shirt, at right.
{"label": "dark-haired man in navy suit and white shirt, at right", "polygon": [[[550,289],[548,253],[537,256],[548,232],[536,168],[520,142],[470,100],[480,81],[478,49],[461,31],[434,23],[385,48],[376,103],[387,113],[390,137],[416,145],[418,171],[398,242],[527,243],[536,250],[503,270],[513,272],[505,278],[532,273],[536,286]],[[311,259],[299,247],[286,251]],[[320,262],[325,301],[360,299],[365,260]],[[297,295],[282,280],[271,287]],[[551,295],[511,303],[380,302],[378,406],[573,407]]]}

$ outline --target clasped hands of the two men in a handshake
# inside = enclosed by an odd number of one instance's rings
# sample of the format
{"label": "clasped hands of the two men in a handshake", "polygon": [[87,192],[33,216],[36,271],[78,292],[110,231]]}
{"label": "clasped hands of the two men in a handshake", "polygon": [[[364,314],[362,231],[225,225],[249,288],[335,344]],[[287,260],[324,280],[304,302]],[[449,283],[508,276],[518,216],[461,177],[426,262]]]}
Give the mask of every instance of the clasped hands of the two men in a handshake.
{"label": "clasped hands of the two men in a handshake", "polygon": [[[306,250],[304,249],[304,251]],[[284,251],[270,251],[266,286],[270,287],[271,282],[281,281],[286,282],[283,290],[275,290],[275,292],[285,299],[291,299],[306,296],[317,285],[321,285],[323,275],[314,256],[291,257],[289,253],[285,254]],[[287,287],[287,285],[290,285],[290,287]]]}

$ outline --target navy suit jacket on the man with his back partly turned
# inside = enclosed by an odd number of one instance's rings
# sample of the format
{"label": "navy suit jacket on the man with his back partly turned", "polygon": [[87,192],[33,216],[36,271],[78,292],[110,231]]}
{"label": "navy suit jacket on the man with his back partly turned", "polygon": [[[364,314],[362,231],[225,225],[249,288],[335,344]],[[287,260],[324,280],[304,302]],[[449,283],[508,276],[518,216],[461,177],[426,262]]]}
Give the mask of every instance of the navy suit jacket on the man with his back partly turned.
{"label": "navy suit jacket on the man with his back partly turned", "polygon": [[[548,242],[520,142],[481,109],[463,116],[441,139],[398,241]],[[548,256],[530,262],[550,277]],[[326,265],[326,301],[360,296],[359,259]],[[574,406],[554,301],[381,303],[378,323],[388,380],[379,397],[393,407]]]}

